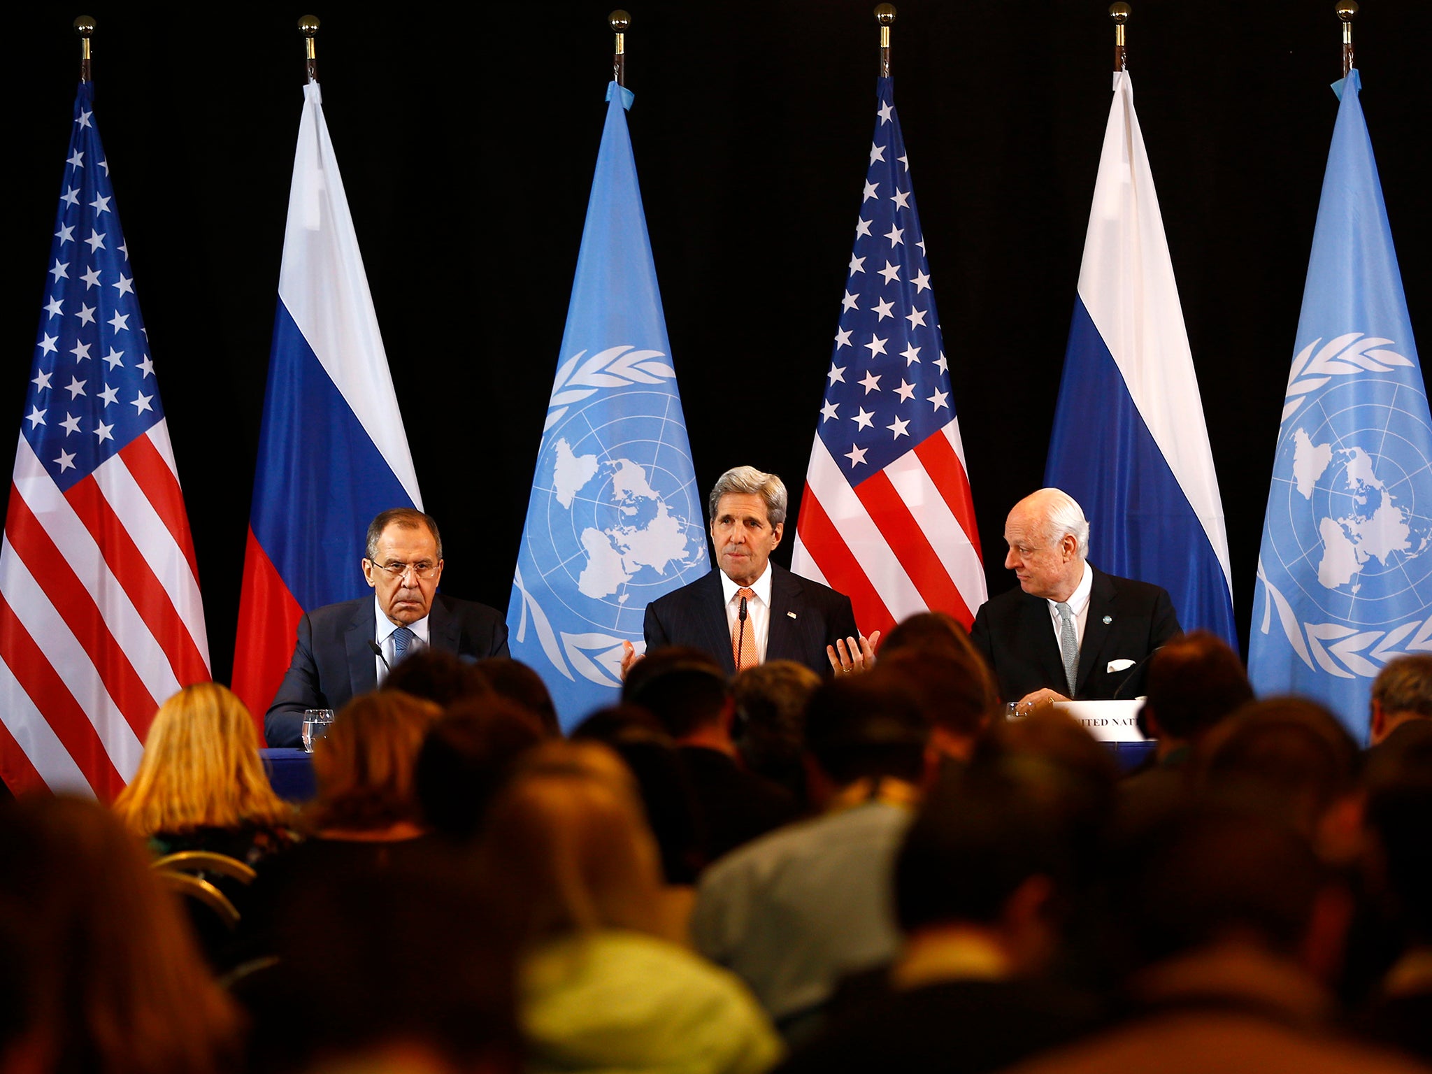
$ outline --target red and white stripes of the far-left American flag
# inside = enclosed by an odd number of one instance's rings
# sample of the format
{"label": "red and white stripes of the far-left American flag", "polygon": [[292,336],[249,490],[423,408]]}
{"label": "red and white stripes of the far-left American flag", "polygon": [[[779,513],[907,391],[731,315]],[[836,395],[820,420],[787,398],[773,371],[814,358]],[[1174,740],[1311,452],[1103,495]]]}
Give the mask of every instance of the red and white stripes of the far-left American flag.
{"label": "red and white stripes of the far-left American flag", "polygon": [[0,546],[0,776],[110,799],[159,703],[209,679],[183,494],[160,421],[62,493],[20,437]]}

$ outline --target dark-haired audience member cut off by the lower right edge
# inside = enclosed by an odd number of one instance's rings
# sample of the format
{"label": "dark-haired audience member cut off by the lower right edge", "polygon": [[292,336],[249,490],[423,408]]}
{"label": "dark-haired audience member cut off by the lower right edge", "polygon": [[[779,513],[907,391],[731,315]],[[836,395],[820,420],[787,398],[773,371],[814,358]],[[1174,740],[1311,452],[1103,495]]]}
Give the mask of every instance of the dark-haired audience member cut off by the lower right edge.
{"label": "dark-haired audience member cut off by the lower right edge", "polygon": [[[1432,723],[1432,722],[1429,722]],[[1386,739],[1389,746],[1396,739]],[[1432,1061],[1432,736],[1370,788],[1366,822],[1375,852],[1369,885],[1396,935],[1396,954],[1360,1021],[1386,1044]]]}

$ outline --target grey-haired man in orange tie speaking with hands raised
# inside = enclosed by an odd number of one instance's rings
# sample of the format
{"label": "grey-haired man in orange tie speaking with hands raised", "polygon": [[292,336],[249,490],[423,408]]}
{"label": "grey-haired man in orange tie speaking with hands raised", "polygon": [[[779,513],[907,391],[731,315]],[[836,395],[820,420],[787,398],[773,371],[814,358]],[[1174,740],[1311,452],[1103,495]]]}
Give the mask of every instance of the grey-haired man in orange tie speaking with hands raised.
{"label": "grey-haired man in orange tie speaking with hands raised", "polygon": [[[769,561],[786,503],[775,474],[736,467],[720,475],[709,501],[717,570],[647,604],[647,652],[692,646],[727,674],[766,660],[852,672],[874,659],[879,632],[856,630],[849,597]],[[629,650],[626,666],[632,659]]]}

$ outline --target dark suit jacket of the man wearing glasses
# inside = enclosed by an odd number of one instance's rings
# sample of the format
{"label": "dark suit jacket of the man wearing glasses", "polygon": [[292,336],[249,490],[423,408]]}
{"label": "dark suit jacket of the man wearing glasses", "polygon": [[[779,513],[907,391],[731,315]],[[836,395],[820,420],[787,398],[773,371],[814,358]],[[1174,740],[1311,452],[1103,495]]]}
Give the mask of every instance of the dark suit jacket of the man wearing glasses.
{"label": "dark suit jacket of the man wearing glasses", "polygon": [[[377,626],[371,596],[326,604],[298,620],[294,660],[263,717],[269,746],[301,745],[304,709],[337,712],[377,687],[377,657],[368,646]],[[438,593],[428,609],[428,644],[478,660],[507,656],[507,623],[487,604]]]}

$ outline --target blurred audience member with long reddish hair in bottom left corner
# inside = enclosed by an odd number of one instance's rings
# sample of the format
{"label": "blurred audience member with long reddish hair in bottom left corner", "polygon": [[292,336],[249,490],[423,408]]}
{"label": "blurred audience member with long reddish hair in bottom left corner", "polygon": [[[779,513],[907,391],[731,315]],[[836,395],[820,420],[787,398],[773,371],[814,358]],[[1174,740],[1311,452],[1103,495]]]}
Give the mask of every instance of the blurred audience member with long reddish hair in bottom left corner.
{"label": "blurred audience member with long reddish hair in bottom left corner", "polygon": [[26,1051],[40,1058],[32,1070],[236,1070],[238,1012],[149,855],[107,809],[67,798],[7,805],[0,862],[0,919],[36,955],[23,985]]}

